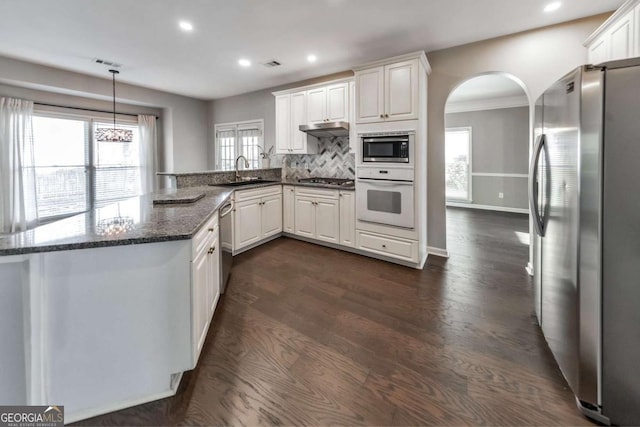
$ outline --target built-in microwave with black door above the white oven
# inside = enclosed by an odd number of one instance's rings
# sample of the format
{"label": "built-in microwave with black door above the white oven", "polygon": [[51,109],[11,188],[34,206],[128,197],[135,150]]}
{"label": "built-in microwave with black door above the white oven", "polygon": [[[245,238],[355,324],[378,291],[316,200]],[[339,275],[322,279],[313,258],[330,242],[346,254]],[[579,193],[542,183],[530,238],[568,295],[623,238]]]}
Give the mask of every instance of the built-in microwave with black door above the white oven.
{"label": "built-in microwave with black door above the white oven", "polygon": [[363,163],[409,163],[413,133],[363,134],[360,138]]}

